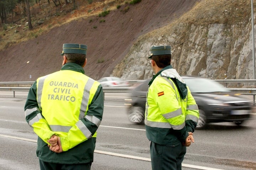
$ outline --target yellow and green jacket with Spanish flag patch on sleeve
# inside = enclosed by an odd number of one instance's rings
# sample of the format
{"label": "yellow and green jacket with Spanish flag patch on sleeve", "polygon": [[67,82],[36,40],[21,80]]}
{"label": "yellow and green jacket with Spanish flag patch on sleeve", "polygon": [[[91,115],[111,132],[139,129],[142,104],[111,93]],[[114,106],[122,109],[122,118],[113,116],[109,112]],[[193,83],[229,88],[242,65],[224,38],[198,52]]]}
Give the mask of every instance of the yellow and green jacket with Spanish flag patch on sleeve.
{"label": "yellow and green jacket with Spanish flag patch on sleeve", "polygon": [[194,132],[199,118],[196,101],[171,66],[149,82],[146,100],[146,136],[159,145],[180,145]]}

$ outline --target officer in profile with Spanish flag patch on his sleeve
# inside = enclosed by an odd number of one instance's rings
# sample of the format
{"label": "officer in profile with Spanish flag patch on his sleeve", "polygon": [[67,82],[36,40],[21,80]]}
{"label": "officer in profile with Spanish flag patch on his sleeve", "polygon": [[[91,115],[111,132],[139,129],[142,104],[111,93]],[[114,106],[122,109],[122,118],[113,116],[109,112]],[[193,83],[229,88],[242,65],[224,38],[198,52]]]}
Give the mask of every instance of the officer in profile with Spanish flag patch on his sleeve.
{"label": "officer in profile with Spanish flag patch on his sleeve", "polygon": [[186,146],[194,142],[199,112],[184,80],[171,66],[171,46],[150,48],[154,77],[146,98],[146,136],[153,170],[181,170]]}

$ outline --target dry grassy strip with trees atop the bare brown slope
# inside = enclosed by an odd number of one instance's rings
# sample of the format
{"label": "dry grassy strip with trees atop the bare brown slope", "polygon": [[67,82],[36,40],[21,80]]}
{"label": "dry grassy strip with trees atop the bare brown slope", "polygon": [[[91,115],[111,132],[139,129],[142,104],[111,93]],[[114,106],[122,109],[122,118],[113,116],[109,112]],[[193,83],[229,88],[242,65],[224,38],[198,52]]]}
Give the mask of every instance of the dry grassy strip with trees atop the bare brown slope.
{"label": "dry grassy strip with trees atop the bare brown slope", "polygon": [[[22,41],[37,38],[54,27],[61,26],[82,17],[106,16],[110,10],[120,8],[123,4],[137,4],[141,0],[75,0],[67,5],[65,0],[31,0],[30,13],[33,29],[29,30],[25,0],[3,0],[12,5],[12,10],[7,10],[6,22],[0,23],[0,50]],[[19,3],[18,3],[19,2]],[[49,3],[50,2],[50,3]],[[59,5],[60,2],[60,5]],[[74,5],[75,2],[75,5]],[[57,5],[57,6],[56,6]],[[1,12],[1,10],[0,10]],[[101,19],[103,22],[104,19]]]}

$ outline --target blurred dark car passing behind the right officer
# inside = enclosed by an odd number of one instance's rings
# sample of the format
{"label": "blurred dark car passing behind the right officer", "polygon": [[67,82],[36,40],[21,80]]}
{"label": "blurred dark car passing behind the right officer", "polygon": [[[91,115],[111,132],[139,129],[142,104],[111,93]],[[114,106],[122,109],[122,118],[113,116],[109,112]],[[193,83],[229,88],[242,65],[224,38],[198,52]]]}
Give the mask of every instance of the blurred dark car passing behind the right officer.
{"label": "blurred dark car passing behind the right officer", "polygon": [[[217,81],[207,78],[182,76],[190,88],[199,109],[197,128],[203,128],[207,123],[234,122],[240,125],[250,118],[252,102],[231,92]],[[144,123],[146,93],[148,83],[138,85],[130,92],[128,100],[128,118],[137,124]]]}

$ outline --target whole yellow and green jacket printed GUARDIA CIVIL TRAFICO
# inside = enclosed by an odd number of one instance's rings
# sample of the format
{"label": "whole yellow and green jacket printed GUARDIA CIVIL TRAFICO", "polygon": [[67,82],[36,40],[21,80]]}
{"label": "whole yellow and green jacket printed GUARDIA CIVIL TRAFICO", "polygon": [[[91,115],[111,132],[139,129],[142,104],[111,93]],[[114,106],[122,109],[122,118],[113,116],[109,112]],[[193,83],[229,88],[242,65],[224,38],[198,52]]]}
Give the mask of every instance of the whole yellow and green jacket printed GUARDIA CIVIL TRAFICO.
{"label": "whole yellow and green jacket printed GUARDIA CIVIL TRAFICO", "polygon": [[[50,81],[54,82],[54,84],[41,83],[42,80],[49,81],[49,77],[54,78],[54,75],[61,75],[56,78],[58,81]],[[74,91],[70,87],[69,91],[67,87],[69,84],[75,89],[86,83],[84,79],[90,82],[91,87],[89,88],[92,90],[79,87],[80,89]],[[71,83],[63,85],[58,82]],[[41,87],[42,85],[46,87],[54,86],[55,88],[52,87],[54,88],[52,95],[46,95],[45,91],[49,88]],[[86,103],[83,103],[84,101]],[[76,107],[78,106],[77,102],[78,104],[80,102],[81,106]],[[69,103],[73,103],[71,105],[73,107],[70,108]],[[93,162],[96,130],[102,120],[103,104],[102,86],[100,83],[84,75],[84,69],[76,63],[66,63],[59,72],[38,78],[30,88],[25,104],[26,121],[38,135],[36,152],[38,158],[44,162],[59,164]],[[66,109],[63,107],[66,107]],[[58,110],[60,110],[60,113]],[[69,115],[71,122],[69,122]],[[66,126],[63,126],[63,124]],[[47,146],[47,140],[54,134],[60,136],[64,151],[62,153],[52,152]]]}

